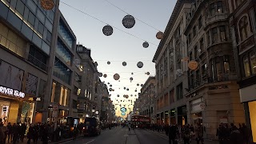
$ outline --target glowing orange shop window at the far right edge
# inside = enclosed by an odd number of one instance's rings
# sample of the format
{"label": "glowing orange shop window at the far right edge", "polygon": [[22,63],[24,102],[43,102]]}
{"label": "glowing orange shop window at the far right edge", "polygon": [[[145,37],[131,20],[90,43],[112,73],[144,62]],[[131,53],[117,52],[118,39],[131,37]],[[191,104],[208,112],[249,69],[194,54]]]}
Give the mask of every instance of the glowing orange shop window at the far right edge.
{"label": "glowing orange shop window at the far right edge", "polygon": [[253,142],[256,142],[256,101],[248,102],[250,111],[250,126],[252,130]]}

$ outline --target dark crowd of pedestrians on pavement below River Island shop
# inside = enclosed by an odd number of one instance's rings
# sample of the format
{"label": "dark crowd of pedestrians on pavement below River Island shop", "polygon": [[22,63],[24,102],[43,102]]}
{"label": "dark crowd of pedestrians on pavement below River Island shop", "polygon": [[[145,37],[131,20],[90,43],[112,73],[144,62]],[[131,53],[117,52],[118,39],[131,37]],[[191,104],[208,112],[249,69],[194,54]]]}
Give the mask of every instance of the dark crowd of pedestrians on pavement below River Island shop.
{"label": "dark crowd of pedestrians on pavement below River Island shop", "polygon": [[[64,124],[58,124],[54,127],[54,124],[31,124],[26,125],[25,123],[14,123],[10,122],[7,126],[3,126],[0,118],[0,144],[6,143],[19,143],[24,142],[26,138],[27,144],[38,143],[42,141],[43,144],[48,142],[59,142],[63,138],[77,138],[78,134],[82,134],[82,123],[70,129],[70,126]],[[41,142],[40,142],[41,143]]]}

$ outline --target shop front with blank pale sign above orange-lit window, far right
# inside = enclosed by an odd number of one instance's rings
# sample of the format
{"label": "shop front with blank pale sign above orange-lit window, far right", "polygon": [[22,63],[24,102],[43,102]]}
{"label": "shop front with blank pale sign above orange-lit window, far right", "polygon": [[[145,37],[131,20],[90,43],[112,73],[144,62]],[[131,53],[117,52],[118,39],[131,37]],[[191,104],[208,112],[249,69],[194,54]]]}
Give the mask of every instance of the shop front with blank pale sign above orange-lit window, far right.
{"label": "shop front with blank pale sign above orange-lit window, far right", "polygon": [[256,85],[247,86],[239,91],[246,113],[246,125],[250,127],[252,141],[256,143]]}

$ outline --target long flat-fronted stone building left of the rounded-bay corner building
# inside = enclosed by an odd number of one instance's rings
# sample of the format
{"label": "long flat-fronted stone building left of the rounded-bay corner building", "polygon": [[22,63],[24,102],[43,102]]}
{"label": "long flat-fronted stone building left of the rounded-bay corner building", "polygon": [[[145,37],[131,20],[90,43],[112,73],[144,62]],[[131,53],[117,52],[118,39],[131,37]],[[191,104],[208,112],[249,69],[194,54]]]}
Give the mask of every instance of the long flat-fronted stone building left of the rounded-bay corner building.
{"label": "long flat-fronted stone building left of the rounded-bay corner building", "polygon": [[190,0],[178,0],[153,58],[156,69],[156,118],[161,125],[187,123],[186,97],[183,95],[188,89],[188,67],[183,32],[190,3]]}

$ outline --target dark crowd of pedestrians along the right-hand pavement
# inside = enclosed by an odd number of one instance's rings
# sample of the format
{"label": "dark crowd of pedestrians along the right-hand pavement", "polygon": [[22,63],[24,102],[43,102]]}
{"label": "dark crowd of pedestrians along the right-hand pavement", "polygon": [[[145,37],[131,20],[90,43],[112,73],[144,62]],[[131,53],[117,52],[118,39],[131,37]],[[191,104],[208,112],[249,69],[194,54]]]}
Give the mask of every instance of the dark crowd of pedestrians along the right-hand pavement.
{"label": "dark crowd of pedestrians along the right-hand pavement", "polygon": [[[182,141],[184,144],[190,144],[193,139],[197,144],[203,144],[203,134],[206,128],[201,123],[197,123],[195,126],[151,124],[150,130],[165,132],[169,137],[170,144],[178,144]],[[218,137],[219,144],[250,144],[250,134],[250,129],[244,123],[239,124],[238,127],[234,123],[230,123],[230,126],[221,123],[218,126],[216,137]]]}

